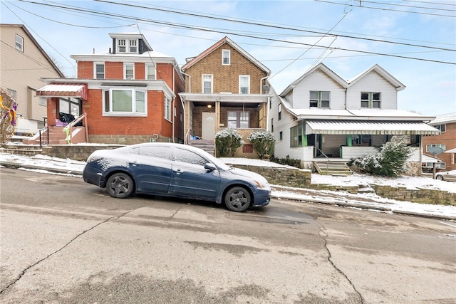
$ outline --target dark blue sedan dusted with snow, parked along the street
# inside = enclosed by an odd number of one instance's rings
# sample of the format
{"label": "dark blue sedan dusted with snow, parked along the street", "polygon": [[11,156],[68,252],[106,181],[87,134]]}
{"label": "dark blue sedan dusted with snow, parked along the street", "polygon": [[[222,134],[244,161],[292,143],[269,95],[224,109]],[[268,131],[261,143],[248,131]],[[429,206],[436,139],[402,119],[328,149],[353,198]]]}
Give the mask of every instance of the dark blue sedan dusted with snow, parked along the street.
{"label": "dark blue sedan dusted with snow, parked along the street", "polygon": [[238,212],[266,206],[271,195],[257,173],[228,167],[196,147],[162,142],[96,150],[83,179],[119,199],[135,193],[175,196],[223,203]]}

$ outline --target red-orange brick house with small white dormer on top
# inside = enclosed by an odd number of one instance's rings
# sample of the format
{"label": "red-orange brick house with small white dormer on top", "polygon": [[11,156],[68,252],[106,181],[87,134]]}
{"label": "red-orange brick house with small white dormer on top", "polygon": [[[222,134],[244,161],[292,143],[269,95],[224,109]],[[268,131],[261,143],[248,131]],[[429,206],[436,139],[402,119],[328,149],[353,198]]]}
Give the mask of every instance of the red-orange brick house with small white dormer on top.
{"label": "red-orange brick house with small white dormer on top", "polygon": [[78,78],[43,79],[48,85],[38,95],[48,97],[48,125],[59,125],[60,113],[66,113],[83,117],[88,138],[79,142],[183,142],[177,93],[184,90],[184,79],[175,58],[153,51],[140,33],[110,38],[108,53],[71,56]]}

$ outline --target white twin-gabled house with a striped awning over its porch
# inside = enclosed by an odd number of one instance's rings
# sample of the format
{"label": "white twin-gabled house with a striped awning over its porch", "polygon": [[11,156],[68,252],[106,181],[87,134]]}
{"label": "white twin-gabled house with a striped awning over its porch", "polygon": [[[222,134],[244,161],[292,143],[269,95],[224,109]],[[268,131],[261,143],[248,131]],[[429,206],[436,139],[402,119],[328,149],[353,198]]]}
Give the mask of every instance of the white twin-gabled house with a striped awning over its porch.
{"label": "white twin-gabled house with a striped awning over its porch", "polygon": [[347,162],[375,154],[375,146],[405,135],[414,147],[411,161],[419,163],[421,137],[440,131],[425,123],[434,117],[397,110],[397,92],[404,88],[379,65],[348,81],[316,65],[272,99],[274,156],[301,159],[310,168],[321,159]]}

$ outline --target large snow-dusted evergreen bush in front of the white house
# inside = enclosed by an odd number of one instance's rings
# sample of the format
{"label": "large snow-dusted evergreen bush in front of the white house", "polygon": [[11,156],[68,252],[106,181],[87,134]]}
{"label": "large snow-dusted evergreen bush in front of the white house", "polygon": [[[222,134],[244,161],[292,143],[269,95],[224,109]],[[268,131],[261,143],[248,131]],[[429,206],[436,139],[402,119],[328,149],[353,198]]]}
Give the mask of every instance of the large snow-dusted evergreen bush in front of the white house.
{"label": "large snow-dusted evergreen bush in front of the white house", "polygon": [[377,154],[367,154],[351,159],[348,165],[356,165],[361,172],[383,177],[398,177],[406,171],[405,162],[412,151],[405,142],[392,140],[377,147]]}

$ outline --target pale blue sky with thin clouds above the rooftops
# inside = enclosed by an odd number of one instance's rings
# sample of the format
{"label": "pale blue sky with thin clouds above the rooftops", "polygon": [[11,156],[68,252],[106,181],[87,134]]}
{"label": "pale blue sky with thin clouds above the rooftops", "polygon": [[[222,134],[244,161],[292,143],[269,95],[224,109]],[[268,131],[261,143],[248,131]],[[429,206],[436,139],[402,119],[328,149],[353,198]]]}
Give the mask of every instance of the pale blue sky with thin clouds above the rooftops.
{"label": "pale blue sky with thin clouds above the rooftops", "polygon": [[321,62],[346,80],[378,64],[406,87],[399,110],[456,112],[454,0],[1,0],[0,11],[70,78],[70,55],[108,52],[108,33],[140,32],[180,66],[228,36],[271,70],[277,93]]}

